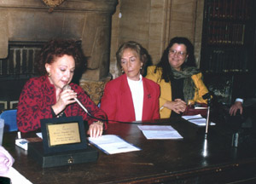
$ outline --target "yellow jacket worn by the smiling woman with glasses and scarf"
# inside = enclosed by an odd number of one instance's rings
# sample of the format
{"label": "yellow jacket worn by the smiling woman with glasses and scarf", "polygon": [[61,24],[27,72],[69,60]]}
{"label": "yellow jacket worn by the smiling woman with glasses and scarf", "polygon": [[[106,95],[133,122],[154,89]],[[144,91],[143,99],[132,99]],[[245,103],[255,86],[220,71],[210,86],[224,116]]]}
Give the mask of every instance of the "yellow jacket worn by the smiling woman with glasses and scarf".
{"label": "yellow jacket worn by the smiling woman with glasses and scarf", "polygon": [[[156,73],[154,73],[155,66],[148,66],[148,72],[146,78],[153,80],[155,83],[160,84],[160,106],[163,106],[166,101],[172,101],[172,86],[171,83],[166,83],[165,80],[161,79],[161,70],[158,69]],[[202,95],[208,93],[208,89],[206,85],[203,83],[201,79],[201,72],[197,73],[191,78],[195,83],[195,95],[194,99],[189,100],[189,103],[207,103],[207,100],[202,98]],[[170,118],[172,110],[168,108],[162,108],[160,110],[160,118]]]}

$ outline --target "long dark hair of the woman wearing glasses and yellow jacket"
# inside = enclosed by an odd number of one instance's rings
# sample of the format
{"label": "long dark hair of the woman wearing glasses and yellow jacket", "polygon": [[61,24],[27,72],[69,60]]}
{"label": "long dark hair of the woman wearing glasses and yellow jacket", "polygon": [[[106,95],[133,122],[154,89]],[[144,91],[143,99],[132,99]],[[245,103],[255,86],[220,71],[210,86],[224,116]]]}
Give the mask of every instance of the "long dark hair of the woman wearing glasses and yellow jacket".
{"label": "long dark hair of the woman wearing glasses and yellow jacket", "polygon": [[183,63],[181,67],[183,68],[184,66],[195,66],[195,55],[194,55],[193,44],[189,41],[187,37],[173,37],[170,43],[168,44],[167,48],[165,49],[163,55],[161,56],[160,62],[156,65],[156,68],[154,71],[156,72],[158,68],[161,68],[162,70],[161,79],[164,79],[166,83],[169,83],[169,81],[172,78],[172,68],[169,64],[168,55],[169,55],[169,50],[170,48],[172,48],[172,45],[174,43],[184,44],[187,49],[188,59],[186,60],[186,62]]}

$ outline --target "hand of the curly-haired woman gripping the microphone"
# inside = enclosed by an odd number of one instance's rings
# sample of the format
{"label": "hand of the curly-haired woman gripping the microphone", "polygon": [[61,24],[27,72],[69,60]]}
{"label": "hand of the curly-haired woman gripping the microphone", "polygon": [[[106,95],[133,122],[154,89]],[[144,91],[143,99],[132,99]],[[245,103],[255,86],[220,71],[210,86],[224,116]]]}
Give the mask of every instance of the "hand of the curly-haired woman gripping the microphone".
{"label": "hand of the curly-haired woman gripping the microphone", "polygon": [[[57,94],[57,93],[56,93]],[[73,89],[62,90],[61,93],[56,95],[56,103],[52,106],[55,114],[62,112],[67,105],[75,102],[74,98],[77,98],[77,93]]]}

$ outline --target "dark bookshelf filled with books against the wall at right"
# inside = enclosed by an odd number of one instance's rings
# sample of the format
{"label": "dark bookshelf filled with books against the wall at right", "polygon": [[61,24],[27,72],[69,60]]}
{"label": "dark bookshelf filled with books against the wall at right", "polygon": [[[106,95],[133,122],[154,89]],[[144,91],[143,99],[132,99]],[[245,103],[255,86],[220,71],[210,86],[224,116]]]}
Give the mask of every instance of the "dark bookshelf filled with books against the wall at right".
{"label": "dark bookshelf filled with books against the wall at right", "polygon": [[230,106],[256,72],[256,1],[205,0],[200,68],[216,101]]}

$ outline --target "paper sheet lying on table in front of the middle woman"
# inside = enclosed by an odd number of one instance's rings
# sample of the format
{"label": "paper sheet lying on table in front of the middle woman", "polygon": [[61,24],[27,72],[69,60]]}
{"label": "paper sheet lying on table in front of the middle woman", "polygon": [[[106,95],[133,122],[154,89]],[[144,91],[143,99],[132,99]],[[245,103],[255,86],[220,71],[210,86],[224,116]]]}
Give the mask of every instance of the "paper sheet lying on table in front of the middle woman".
{"label": "paper sheet lying on table in front of the middle woman", "polygon": [[183,139],[170,125],[138,125],[147,139]]}

